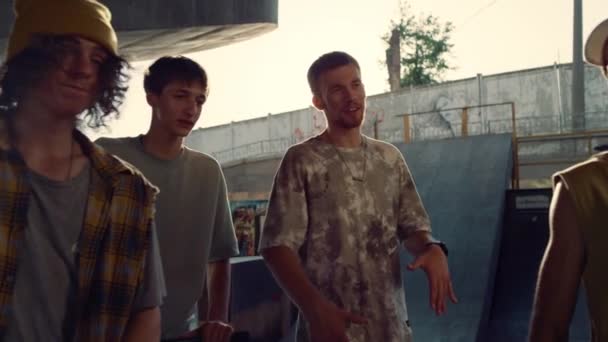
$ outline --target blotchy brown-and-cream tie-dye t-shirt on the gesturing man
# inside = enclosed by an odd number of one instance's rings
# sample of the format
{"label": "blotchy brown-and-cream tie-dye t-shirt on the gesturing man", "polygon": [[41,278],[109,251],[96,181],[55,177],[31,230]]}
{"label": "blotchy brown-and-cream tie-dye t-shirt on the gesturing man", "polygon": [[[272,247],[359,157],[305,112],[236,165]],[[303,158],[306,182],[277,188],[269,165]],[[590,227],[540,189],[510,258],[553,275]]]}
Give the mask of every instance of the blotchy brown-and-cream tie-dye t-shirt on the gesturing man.
{"label": "blotchy brown-and-cream tie-dye t-shirt on the gesturing man", "polygon": [[260,249],[290,247],[325,298],[369,320],[350,325],[351,342],[403,342],[411,331],[398,246],[421,230],[430,222],[397,148],[368,137],[337,148],[317,136],[285,154]]}

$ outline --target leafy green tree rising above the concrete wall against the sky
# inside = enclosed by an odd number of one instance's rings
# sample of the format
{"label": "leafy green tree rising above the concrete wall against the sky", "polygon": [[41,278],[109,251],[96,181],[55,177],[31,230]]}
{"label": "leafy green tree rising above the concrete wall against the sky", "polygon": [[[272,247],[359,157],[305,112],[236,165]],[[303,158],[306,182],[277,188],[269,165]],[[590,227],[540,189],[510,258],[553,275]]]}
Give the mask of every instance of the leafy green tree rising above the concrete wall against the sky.
{"label": "leafy green tree rising above the concrete wall against the sky", "polygon": [[410,13],[407,2],[401,2],[400,18],[391,21],[389,33],[382,37],[389,44],[386,65],[391,90],[438,83],[443,73],[451,69],[447,57],[453,47],[452,23],[442,24],[432,15]]}

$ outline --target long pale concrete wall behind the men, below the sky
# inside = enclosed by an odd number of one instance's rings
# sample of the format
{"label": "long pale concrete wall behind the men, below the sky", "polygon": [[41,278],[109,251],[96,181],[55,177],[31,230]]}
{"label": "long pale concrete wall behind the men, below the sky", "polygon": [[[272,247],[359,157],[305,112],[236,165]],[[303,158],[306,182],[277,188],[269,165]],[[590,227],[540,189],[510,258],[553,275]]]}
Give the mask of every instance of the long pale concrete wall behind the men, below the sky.
{"label": "long pale concrete wall behind the men, below the sky", "polygon": [[[607,128],[608,83],[596,68],[587,67],[585,73],[587,128]],[[372,123],[377,122],[378,138],[400,142],[404,132],[403,119],[399,115],[434,111],[412,116],[412,140],[457,137],[461,133],[461,111],[449,108],[511,101],[515,103],[518,136],[568,132],[572,127],[570,85],[571,67],[568,64],[370,96],[364,132],[373,136]],[[470,135],[512,131],[509,105],[470,109],[468,115]],[[226,163],[281,155],[290,144],[324,128],[323,113],[309,107],[199,129],[192,132],[187,143]],[[262,144],[262,141],[266,143]],[[535,153],[534,148],[530,153]]]}

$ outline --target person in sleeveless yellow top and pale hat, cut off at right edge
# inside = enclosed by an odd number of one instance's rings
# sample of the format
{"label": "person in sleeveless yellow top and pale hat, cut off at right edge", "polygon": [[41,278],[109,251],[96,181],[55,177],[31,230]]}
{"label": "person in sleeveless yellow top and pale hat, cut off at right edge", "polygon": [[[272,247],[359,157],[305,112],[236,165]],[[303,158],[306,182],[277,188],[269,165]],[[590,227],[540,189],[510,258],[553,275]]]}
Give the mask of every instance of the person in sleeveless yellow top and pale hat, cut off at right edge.
{"label": "person in sleeveless yellow top and pale hat, cut off at right edge", "polygon": [[[587,62],[608,76],[608,19],[585,44]],[[550,238],[543,258],[530,341],[567,341],[578,287],[585,288],[592,341],[608,341],[608,152],[553,176]]]}

